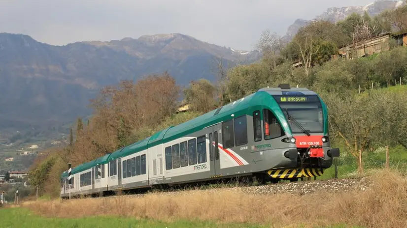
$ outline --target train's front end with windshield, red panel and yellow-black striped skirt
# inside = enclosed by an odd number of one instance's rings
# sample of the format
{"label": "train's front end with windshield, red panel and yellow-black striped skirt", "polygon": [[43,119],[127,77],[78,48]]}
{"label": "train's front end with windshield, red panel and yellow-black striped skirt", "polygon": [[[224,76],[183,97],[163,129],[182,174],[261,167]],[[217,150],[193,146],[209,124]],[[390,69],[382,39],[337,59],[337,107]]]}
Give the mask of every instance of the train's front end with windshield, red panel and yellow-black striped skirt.
{"label": "train's front end with windshield, red panel and yellow-black striped skirt", "polygon": [[[281,125],[284,132],[273,143],[279,152],[274,153],[274,166],[268,175],[293,181],[321,176],[332,166],[333,158],[339,157],[339,148],[331,147],[327,106],[315,92],[305,88],[283,85],[279,91],[268,92],[278,121],[275,124]],[[273,123],[265,121],[264,125]]]}

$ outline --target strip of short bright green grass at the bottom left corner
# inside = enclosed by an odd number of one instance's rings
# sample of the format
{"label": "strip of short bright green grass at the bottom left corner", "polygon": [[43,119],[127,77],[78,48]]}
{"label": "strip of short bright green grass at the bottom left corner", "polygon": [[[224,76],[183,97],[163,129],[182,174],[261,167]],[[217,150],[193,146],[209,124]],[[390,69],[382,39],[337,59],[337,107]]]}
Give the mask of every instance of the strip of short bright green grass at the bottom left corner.
{"label": "strip of short bright green grass at the bottom left corner", "polygon": [[1,228],[262,228],[249,224],[220,224],[201,221],[160,222],[117,217],[89,217],[78,219],[42,218],[23,208],[0,209]]}

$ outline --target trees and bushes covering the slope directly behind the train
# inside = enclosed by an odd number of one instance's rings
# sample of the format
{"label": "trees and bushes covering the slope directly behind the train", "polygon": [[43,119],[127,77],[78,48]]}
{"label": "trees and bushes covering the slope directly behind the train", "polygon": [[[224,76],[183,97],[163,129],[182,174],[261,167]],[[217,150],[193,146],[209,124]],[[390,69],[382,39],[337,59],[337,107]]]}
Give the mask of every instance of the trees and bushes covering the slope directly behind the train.
{"label": "trees and bushes covering the slope directly behind the train", "polygon": [[[219,65],[219,82],[191,82],[184,90],[191,112],[175,114],[180,87],[167,73],[150,75],[136,83],[123,81],[104,87],[91,101],[93,116],[84,124],[79,118],[72,129],[69,146],[51,149],[38,157],[31,171],[40,194],[57,196],[61,172],[141,140],[170,125],[233,102],[259,88],[289,83],[319,93],[328,105],[330,135],[344,157],[353,161],[381,146],[407,142],[407,49],[388,44],[390,50],[370,57],[332,58],[339,47],[382,32],[403,32],[407,6],[386,11],[374,18],[353,14],[339,23],[315,21],[301,28],[293,40],[266,31],[258,48],[261,61],[224,69]],[[403,11],[404,12],[404,11]],[[401,15],[401,16],[400,16]],[[401,23],[406,22],[406,23]],[[397,29],[397,30],[395,30]],[[300,67],[293,63],[300,61]],[[391,88],[394,86],[394,88]],[[389,87],[390,89],[383,89]],[[46,184],[45,184],[46,183]]]}

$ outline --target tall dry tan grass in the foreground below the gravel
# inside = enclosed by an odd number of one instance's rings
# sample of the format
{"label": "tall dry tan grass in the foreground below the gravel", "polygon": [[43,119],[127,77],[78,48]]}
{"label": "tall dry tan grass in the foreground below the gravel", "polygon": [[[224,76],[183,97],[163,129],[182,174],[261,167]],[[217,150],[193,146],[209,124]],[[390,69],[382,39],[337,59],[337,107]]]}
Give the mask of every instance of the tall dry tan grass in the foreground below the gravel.
{"label": "tall dry tan grass in the foreground below the gravel", "polygon": [[406,177],[395,171],[370,176],[365,191],[316,191],[310,194],[247,194],[230,189],[23,202],[47,218],[115,216],[164,222],[210,221],[271,227],[407,227]]}

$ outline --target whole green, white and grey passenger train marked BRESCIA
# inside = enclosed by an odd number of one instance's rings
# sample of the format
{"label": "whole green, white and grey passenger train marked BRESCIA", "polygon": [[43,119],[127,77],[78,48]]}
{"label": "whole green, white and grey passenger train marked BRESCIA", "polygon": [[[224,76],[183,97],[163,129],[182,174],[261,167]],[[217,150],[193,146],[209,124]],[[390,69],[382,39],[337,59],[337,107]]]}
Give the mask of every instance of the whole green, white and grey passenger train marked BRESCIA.
{"label": "whole green, white and grey passenger train marked BRESCIA", "polygon": [[261,182],[320,176],[332,166],[328,110],[306,88],[259,91],[159,131],[61,176],[61,197],[233,177]]}

